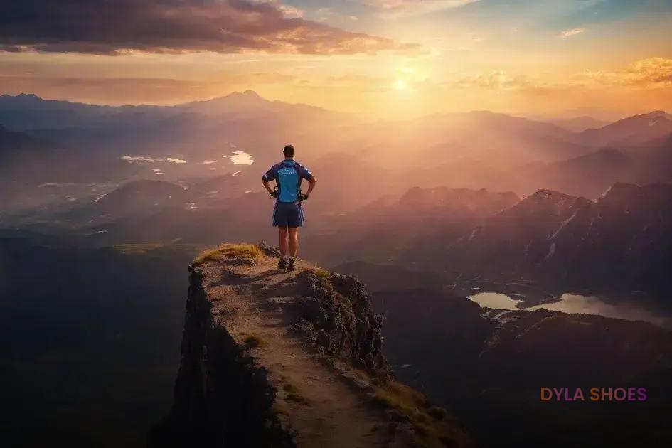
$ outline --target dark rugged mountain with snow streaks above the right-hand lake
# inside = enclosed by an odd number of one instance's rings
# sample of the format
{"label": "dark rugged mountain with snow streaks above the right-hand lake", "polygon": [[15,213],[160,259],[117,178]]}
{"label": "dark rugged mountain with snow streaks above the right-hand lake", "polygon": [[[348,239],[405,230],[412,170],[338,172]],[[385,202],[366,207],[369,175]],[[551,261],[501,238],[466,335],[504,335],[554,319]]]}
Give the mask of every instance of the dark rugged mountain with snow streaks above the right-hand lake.
{"label": "dark rugged mountain with snow streaks above the right-hand lake", "polygon": [[[672,287],[672,184],[616,183],[597,201],[540,190],[457,240],[471,272],[534,278],[567,291]],[[484,263],[484,260],[487,260]]]}

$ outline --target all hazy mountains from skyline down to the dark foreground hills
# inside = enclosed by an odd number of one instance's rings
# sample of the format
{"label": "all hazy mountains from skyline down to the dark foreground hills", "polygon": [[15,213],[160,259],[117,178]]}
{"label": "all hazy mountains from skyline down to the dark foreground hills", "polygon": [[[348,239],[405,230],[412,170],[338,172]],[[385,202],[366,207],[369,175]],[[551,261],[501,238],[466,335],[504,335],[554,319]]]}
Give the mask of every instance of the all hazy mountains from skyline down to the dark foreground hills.
{"label": "all hazy mountains from skyline down to the dark foreground hills", "polygon": [[[0,124],[4,223],[70,229],[93,244],[254,239],[272,207],[259,178],[294,142],[319,179],[304,233],[319,262],[579,289],[668,285],[658,268],[670,261],[665,112],[570,132],[484,111],[361,122],[252,91],[171,107],[3,95]],[[254,164],[233,164],[238,150]]]}

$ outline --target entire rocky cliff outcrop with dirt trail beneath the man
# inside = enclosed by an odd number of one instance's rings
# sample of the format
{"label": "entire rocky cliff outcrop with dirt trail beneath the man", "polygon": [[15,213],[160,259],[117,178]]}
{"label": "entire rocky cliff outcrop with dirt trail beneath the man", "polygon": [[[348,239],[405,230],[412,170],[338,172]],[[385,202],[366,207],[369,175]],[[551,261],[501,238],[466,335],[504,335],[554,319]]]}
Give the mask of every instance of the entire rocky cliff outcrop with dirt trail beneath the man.
{"label": "entire rocky cliff outcrop with dirt trail beneath the man", "polygon": [[473,446],[392,378],[360,282],[276,255],[223,245],[190,268],[174,405],[149,447]]}

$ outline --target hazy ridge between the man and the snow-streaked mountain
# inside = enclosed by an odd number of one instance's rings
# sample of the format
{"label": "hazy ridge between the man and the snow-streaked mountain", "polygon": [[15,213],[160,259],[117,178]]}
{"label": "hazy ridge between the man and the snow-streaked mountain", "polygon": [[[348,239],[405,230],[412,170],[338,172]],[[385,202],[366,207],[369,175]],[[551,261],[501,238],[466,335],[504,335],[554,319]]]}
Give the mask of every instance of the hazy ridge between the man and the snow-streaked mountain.
{"label": "hazy ridge between the man and the snow-streaked mountain", "polygon": [[517,202],[518,196],[510,192],[411,188],[401,196],[330,217],[330,231],[306,235],[307,255],[332,265],[352,260],[400,262],[407,252],[422,255],[427,247],[444,247]]}

